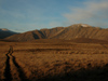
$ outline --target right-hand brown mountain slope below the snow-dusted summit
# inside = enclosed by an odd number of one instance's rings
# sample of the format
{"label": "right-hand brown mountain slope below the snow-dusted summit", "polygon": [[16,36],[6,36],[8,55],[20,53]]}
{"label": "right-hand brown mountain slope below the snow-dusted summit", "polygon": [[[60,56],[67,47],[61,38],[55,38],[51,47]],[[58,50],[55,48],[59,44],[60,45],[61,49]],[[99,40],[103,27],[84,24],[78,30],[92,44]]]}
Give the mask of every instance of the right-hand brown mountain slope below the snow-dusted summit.
{"label": "right-hand brown mountain slope below the snow-dusted summit", "polygon": [[100,39],[107,40],[108,39],[108,30],[100,29],[95,27],[78,27],[78,26],[70,26],[65,28],[60,33],[52,37],[55,39],[75,39],[75,38],[90,38],[90,39]]}

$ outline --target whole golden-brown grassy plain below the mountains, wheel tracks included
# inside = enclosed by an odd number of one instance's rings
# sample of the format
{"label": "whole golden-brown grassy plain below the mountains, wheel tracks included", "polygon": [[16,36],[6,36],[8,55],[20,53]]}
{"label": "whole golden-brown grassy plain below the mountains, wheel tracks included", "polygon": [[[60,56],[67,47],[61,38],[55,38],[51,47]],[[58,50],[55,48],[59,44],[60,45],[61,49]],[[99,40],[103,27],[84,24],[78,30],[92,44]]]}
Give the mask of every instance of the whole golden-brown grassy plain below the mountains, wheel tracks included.
{"label": "whole golden-brown grassy plain below the mountains, wheel tracks included", "polygon": [[0,81],[108,81],[108,44],[0,41]]}

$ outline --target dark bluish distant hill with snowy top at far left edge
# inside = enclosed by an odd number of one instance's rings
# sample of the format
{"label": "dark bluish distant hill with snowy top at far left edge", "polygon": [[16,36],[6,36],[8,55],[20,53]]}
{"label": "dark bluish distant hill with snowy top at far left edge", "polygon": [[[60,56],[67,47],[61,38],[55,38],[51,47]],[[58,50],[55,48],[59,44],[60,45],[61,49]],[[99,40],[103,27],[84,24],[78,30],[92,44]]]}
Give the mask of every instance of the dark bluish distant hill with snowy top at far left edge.
{"label": "dark bluish distant hill with snowy top at far left edge", "polygon": [[11,31],[9,29],[5,29],[5,28],[0,28],[0,39],[4,39],[6,37],[10,37],[10,36],[13,36],[15,35],[16,32],[14,31]]}

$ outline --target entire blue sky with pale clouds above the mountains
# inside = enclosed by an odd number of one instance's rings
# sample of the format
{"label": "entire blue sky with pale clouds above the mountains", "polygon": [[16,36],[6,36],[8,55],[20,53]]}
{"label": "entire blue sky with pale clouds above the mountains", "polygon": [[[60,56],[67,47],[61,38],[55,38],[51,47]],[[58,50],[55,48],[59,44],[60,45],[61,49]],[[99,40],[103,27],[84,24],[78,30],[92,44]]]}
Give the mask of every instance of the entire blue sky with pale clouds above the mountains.
{"label": "entire blue sky with pale clouds above the mountains", "polygon": [[108,28],[108,0],[0,0],[0,28],[25,32],[73,24]]}

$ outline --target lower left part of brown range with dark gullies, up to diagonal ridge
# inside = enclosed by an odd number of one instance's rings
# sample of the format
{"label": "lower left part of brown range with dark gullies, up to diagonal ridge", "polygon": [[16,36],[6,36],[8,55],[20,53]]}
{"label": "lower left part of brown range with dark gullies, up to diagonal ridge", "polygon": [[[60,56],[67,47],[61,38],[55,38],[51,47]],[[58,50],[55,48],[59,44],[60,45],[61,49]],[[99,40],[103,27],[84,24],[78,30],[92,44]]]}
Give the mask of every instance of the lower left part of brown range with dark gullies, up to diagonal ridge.
{"label": "lower left part of brown range with dark gullies, up to diagonal ridge", "polygon": [[51,36],[55,35],[60,29],[63,29],[63,27],[57,27],[53,29],[32,30],[32,31],[27,31],[24,33],[14,35],[5,39],[14,40],[14,41],[30,41],[30,40],[36,40],[36,39],[48,39]]}

